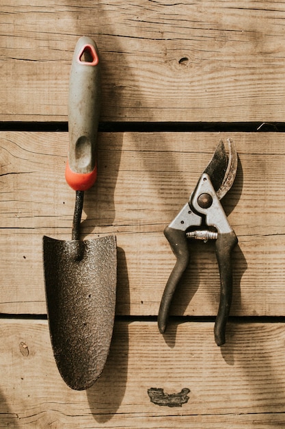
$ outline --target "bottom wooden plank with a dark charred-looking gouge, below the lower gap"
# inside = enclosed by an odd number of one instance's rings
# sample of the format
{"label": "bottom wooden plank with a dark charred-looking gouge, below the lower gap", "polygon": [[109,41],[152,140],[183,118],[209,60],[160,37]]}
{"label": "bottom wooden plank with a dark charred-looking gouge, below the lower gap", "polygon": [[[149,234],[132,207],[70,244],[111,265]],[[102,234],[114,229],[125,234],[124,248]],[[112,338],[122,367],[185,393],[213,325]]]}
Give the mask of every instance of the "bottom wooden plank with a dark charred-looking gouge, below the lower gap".
{"label": "bottom wooden plank with a dark charred-looking gouge, below the lower gap", "polygon": [[[72,391],[59,376],[46,321],[0,321],[0,427],[276,428],[285,424],[283,323],[230,323],[219,348],[213,323],[182,323],[163,337],[153,322],[116,322],[98,382]],[[150,401],[189,389],[187,403]]]}

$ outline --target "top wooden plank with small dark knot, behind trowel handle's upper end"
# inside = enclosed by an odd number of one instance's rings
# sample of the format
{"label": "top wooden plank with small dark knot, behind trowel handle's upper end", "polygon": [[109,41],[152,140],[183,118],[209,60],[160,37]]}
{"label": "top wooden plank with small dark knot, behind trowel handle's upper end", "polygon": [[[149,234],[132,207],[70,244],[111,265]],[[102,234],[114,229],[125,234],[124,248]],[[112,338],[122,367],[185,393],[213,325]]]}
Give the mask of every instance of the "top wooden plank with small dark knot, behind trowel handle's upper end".
{"label": "top wooden plank with small dark knot, behind trowel handle's upper end", "polygon": [[284,121],[285,1],[1,1],[0,120],[66,121],[79,36],[103,121]]}

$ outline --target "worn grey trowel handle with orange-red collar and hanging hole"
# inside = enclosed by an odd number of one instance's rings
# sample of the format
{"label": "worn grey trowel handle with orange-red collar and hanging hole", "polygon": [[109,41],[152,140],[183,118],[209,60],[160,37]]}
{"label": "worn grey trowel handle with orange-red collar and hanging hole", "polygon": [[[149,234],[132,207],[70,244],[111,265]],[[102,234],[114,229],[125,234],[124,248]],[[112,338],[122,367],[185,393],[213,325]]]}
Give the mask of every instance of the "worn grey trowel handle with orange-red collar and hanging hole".
{"label": "worn grey trowel handle with orange-red collar and hanging hole", "polygon": [[99,73],[96,43],[92,38],[83,36],[74,49],[68,99],[69,154],[66,182],[75,191],[86,191],[96,181]]}

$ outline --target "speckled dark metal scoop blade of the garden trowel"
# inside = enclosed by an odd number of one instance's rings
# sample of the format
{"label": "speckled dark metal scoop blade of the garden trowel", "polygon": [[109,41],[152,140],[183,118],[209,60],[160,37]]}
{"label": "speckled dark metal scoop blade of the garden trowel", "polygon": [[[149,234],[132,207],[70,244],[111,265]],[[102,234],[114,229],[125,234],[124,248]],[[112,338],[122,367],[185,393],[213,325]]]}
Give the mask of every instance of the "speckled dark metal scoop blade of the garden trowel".
{"label": "speckled dark metal scoop blade of the garden trowel", "polygon": [[100,376],[109,353],[116,306],[116,237],[61,241],[44,236],[43,251],[55,361],[66,384],[84,390]]}

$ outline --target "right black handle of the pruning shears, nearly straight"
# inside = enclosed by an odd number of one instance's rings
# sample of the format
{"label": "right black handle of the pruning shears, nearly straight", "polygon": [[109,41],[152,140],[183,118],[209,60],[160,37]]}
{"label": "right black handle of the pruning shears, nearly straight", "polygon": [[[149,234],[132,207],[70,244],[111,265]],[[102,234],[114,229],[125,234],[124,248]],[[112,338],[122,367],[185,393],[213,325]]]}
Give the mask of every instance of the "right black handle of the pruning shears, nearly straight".
{"label": "right black handle of the pruning shears, nearly straight", "polygon": [[232,249],[238,243],[236,234],[228,232],[218,234],[216,241],[216,254],[219,265],[219,275],[221,280],[221,291],[219,310],[215,322],[214,334],[217,345],[226,343],[226,323],[230,314],[232,304]]}

